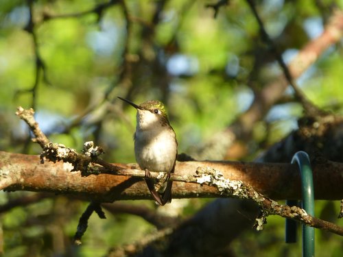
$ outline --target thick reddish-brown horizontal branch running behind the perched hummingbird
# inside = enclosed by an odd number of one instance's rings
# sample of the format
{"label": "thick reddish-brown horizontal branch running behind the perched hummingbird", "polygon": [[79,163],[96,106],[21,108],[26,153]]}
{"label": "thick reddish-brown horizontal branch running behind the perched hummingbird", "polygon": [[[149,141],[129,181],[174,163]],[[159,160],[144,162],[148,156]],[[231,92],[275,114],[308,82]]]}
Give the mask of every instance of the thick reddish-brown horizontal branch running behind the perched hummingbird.
{"label": "thick reddish-brown horizontal branch running behind the perched hummingbird", "polygon": [[[143,182],[145,171],[137,164],[113,164],[122,167],[122,175],[88,175],[82,177],[80,171],[70,172],[73,166],[63,162],[40,164],[39,156],[12,154],[0,151],[1,189],[10,191],[43,191],[72,194],[82,199],[111,202],[126,199],[151,199]],[[256,191],[274,199],[300,199],[300,177],[296,165],[281,163],[252,162],[177,162],[176,171],[171,175],[174,198],[222,197],[211,186],[201,186],[187,182],[195,175],[198,167],[211,167],[230,180],[241,180]],[[133,169],[131,169],[133,168]],[[322,161],[312,166],[316,199],[341,199],[343,164]],[[108,173],[113,173],[108,171]],[[328,176],[327,174],[330,174]],[[133,175],[140,178],[132,179]],[[159,173],[152,173],[157,177]],[[91,186],[90,186],[91,185]],[[328,189],[329,188],[329,189]]]}

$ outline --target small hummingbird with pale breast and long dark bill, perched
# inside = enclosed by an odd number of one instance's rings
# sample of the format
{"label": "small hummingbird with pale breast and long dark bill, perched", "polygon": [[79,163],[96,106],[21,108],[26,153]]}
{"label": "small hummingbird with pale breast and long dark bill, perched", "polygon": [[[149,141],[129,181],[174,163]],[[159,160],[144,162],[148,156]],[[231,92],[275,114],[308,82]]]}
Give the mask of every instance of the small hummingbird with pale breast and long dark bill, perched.
{"label": "small hummingbird with pale breast and long dark bill, perched", "polygon": [[[150,100],[137,105],[127,99],[137,109],[137,126],[134,132],[134,155],[139,167],[145,171],[145,182],[152,197],[161,206],[171,202],[170,173],[174,173],[178,142],[169,123],[165,106],[161,101]],[[150,171],[165,172],[163,182],[152,180]]]}

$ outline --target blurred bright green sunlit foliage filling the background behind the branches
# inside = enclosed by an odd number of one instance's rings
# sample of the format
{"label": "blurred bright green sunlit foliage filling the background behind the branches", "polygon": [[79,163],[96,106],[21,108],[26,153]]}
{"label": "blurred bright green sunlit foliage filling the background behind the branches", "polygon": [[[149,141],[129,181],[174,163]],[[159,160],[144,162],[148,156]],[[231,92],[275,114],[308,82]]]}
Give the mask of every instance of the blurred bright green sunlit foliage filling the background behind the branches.
{"label": "blurred bright green sunlit foliage filling the background behind the branches", "polygon": [[[213,10],[205,8],[207,1],[181,0],[124,1],[125,6],[117,3],[104,8],[101,16],[82,14],[106,2],[33,1],[36,46],[24,29],[29,1],[0,2],[1,150],[40,153],[38,146],[28,143],[27,127],[14,115],[17,106],[30,108],[36,102],[36,118],[51,141],[80,150],[86,140],[94,140],[105,149],[106,160],[134,162],[135,110],[122,106],[116,99],[120,95],[137,103],[163,100],[178,136],[179,152],[189,153],[248,108],[254,97],[252,86],[263,88],[280,75],[245,1],[230,1],[216,19]],[[326,8],[318,6],[319,2]],[[307,19],[324,22],[331,6],[343,8],[342,1],[257,3],[265,27],[284,52],[300,50],[311,40],[304,27]],[[161,12],[156,12],[158,7]],[[128,16],[123,10],[128,10]],[[47,14],[50,19],[45,20]],[[69,16],[60,16],[64,14]],[[41,70],[33,89],[35,51],[44,62],[46,77]],[[311,101],[337,114],[343,112],[342,51],[341,41],[322,54],[299,82]],[[270,119],[254,128],[246,159],[252,160],[263,150],[260,142],[271,145],[296,128],[300,104],[277,107]],[[86,110],[90,111],[84,115]],[[1,192],[0,198],[5,203],[25,195],[29,193]],[[192,215],[206,201],[192,199],[180,217]],[[151,201],[134,204],[154,205]],[[325,204],[318,204],[316,213]],[[107,214],[108,219],[99,220],[94,215],[84,245],[75,248],[71,238],[85,208],[84,202],[60,196],[4,213],[5,256],[102,256],[109,247],[132,243],[154,230],[139,217]],[[337,208],[334,212],[338,213]],[[263,232],[247,232],[233,243],[237,256],[300,255],[300,243],[283,243],[284,220],[270,217],[268,221]],[[340,256],[341,239],[330,236],[326,240],[322,233],[316,237],[318,256]]]}

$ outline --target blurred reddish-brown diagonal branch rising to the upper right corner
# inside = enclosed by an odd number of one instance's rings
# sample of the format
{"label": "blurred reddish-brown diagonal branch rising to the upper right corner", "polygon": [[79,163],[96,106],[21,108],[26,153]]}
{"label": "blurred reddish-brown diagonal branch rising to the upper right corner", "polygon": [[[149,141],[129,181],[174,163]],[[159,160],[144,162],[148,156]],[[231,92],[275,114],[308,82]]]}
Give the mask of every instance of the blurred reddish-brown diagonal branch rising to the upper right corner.
{"label": "blurred reddish-brown diagonal branch rising to the upper right corner", "polygon": [[[329,23],[324,27],[322,34],[309,41],[287,64],[291,77],[293,79],[300,77],[329,47],[335,45],[342,38],[342,35],[343,12],[336,10],[333,12]],[[218,132],[211,140],[204,143],[194,156],[199,159],[218,158],[218,156],[225,158],[228,149],[234,145],[236,140],[248,142],[252,136],[254,124],[265,117],[272,105],[283,97],[288,84],[285,76],[280,75],[263,86],[261,91],[255,95],[255,99],[248,110],[239,115],[233,123],[230,123],[226,130]],[[225,138],[225,140],[220,140],[221,143],[218,144],[216,143],[218,138]]]}

